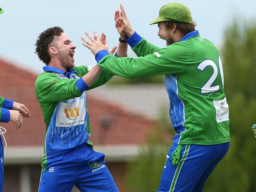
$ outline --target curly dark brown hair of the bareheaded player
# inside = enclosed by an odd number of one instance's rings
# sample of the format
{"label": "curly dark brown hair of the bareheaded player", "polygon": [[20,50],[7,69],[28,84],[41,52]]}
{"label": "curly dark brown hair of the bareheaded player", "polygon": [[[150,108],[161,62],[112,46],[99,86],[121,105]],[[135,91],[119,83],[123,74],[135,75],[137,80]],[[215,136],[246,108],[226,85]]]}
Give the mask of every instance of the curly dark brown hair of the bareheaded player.
{"label": "curly dark brown hair of the bareheaded player", "polygon": [[56,43],[54,41],[54,36],[61,35],[64,33],[61,27],[51,27],[42,32],[36,40],[36,51],[35,53],[38,55],[39,59],[48,65],[50,62],[50,54],[48,52],[48,48],[55,46]]}

